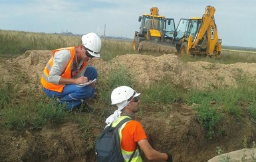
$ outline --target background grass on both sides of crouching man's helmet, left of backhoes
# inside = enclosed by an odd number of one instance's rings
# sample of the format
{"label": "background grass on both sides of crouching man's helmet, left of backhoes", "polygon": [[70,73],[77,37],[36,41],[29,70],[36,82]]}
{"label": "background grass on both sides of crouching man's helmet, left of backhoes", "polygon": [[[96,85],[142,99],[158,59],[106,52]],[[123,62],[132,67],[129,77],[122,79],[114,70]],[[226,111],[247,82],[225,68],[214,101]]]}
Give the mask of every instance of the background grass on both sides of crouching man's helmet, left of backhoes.
{"label": "background grass on both sides of crouching man's helmet, left of backhoes", "polygon": [[[64,36],[35,32],[0,30],[0,56],[21,55],[27,50],[55,50],[68,46],[79,46],[80,36]],[[132,42],[102,39],[100,52],[103,60],[112,60],[118,55],[135,54]]]}

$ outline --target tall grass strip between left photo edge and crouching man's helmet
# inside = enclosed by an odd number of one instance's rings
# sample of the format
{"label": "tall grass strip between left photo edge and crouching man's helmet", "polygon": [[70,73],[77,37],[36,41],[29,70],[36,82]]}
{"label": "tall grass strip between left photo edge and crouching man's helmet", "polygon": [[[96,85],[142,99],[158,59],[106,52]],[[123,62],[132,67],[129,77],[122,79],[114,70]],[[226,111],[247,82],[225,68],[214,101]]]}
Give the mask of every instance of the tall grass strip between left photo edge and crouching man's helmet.
{"label": "tall grass strip between left photo edge and crouching man's helmet", "polygon": [[20,55],[27,50],[55,50],[80,44],[80,36],[0,30],[0,56]]}

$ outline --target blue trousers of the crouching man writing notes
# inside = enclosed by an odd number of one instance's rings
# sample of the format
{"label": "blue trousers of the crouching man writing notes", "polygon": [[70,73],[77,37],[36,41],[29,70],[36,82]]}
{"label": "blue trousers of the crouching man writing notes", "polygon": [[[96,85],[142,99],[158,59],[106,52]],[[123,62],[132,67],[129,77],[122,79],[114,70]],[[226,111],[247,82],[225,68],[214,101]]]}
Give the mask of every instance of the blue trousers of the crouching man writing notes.
{"label": "blue trousers of the crouching man writing notes", "polygon": [[[86,68],[84,76],[88,78],[88,80],[93,80],[98,77],[98,72],[95,67],[89,66]],[[88,98],[93,98],[95,93],[95,88],[92,88],[90,85],[85,87],[76,87],[76,85],[65,85],[63,92],[58,93],[56,91],[51,91],[49,89],[45,89],[44,91],[46,95],[50,98],[56,97],[63,104],[67,104],[67,109],[75,109],[78,108],[82,101]]]}

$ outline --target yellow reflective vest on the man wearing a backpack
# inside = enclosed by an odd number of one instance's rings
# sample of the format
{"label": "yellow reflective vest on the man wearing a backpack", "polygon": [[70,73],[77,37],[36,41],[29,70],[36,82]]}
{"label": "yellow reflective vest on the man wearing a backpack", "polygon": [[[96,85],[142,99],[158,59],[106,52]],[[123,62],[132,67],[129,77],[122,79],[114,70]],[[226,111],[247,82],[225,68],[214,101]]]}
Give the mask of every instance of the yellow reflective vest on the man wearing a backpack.
{"label": "yellow reflective vest on the man wearing a backpack", "polygon": [[[116,126],[124,118],[130,118],[130,117],[121,116],[117,121],[112,123],[112,127]],[[126,124],[127,124],[127,122],[122,124],[122,126],[120,126],[120,128],[118,129],[120,143],[122,141],[122,129],[124,128],[124,126],[126,126]],[[125,151],[124,149],[122,149],[122,146],[121,146],[121,151],[122,151],[122,156],[124,157],[124,161],[129,161],[130,157],[132,156],[132,153],[134,152],[134,151]],[[142,157],[140,156],[140,151],[139,151],[138,148],[136,149],[136,151],[134,153],[134,156],[132,157],[131,162],[142,162]]]}

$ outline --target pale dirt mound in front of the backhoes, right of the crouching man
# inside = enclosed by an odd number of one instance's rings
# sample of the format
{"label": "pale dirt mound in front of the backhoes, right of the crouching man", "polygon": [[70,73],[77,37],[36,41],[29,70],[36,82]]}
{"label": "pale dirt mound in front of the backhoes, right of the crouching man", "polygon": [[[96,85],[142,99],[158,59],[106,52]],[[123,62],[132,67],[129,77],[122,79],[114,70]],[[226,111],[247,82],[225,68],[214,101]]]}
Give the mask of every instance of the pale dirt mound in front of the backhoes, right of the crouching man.
{"label": "pale dirt mound in front of the backhoes, right of the crouching man", "polygon": [[252,77],[256,75],[254,69],[256,63],[229,65],[202,61],[184,63],[175,54],[158,57],[126,54],[114,58],[112,64],[113,66],[126,66],[141,85],[150,85],[152,81],[159,81],[170,76],[172,78],[170,83],[188,89],[235,85],[238,75],[243,73],[248,73]]}

